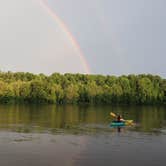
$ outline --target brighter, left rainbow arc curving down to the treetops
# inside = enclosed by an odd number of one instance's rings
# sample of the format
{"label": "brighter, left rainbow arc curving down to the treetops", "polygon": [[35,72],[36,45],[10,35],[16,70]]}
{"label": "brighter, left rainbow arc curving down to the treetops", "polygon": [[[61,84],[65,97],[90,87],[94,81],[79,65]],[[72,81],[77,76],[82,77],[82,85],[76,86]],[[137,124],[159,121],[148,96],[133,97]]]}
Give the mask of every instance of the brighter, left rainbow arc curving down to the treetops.
{"label": "brighter, left rainbow arc curving down to the treetops", "polygon": [[81,51],[81,48],[73,36],[73,34],[68,29],[67,25],[62,21],[62,19],[51,9],[51,7],[48,4],[47,0],[39,0],[40,6],[47,11],[47,13],[56,21],[56,23],[59,25],[59,27],[62,29],[64,34],[67,36],[68,40],[70,41],[72,47],[77,51],[77,55],[79,56],[80,61],[82,62],[83,68],[85,70],[86,74],[91,73],[90,66],[85,58],[85,55]]}

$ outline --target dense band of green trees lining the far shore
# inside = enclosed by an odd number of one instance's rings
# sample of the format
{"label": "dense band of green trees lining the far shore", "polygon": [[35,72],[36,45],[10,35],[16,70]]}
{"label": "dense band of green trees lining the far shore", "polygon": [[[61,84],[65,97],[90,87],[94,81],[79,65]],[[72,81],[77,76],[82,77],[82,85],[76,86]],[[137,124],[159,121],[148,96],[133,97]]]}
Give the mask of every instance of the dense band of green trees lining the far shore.
{"label": "dense band of green trees lining the far shore", "polygon": [[166,79],[0,72],[0,102],[166,104]]}

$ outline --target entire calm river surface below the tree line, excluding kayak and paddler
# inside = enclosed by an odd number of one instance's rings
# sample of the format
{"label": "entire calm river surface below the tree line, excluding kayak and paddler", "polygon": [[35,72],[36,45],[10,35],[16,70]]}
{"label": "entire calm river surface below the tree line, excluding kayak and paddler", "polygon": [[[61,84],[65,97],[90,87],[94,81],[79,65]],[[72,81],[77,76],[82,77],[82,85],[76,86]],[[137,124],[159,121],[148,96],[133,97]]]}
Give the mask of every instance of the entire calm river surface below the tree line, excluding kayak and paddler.
{"label": "entire calm river surface below the tree line, excluding kayak and paddler", "polygon": [[[110,128],[110,112],[135,126]],[[0,166],[166,165],[166,108],[0,105]]]}

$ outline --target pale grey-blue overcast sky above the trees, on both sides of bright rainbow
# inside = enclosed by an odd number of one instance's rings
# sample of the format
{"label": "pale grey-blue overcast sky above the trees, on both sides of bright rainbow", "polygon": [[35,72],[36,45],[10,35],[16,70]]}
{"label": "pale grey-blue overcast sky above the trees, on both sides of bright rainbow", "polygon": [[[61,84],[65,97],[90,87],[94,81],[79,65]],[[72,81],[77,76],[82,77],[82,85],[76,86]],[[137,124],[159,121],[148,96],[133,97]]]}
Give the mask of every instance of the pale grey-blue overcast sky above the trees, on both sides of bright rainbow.
{"label": "pale grey-blue overcast sky above the trees, on both sides of bright rainbow", "polygon": [[[93,73],[166,77],[165,0],[48,0]],[[84,72],[61,27],[39,0],[0,1],[0,69]]]}

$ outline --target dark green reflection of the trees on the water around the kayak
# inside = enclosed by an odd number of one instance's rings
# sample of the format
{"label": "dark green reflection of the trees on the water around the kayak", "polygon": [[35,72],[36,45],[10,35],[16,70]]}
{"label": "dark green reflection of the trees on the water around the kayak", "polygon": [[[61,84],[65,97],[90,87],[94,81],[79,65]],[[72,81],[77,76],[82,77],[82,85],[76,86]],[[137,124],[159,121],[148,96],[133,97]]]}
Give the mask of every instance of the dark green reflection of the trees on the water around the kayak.
{"label": "dark green reflection of the trees on the water around the kayak", "polygon": [[[165,107],[0,105],[0,130],[33,133],[110,132],[110,112],[133,119],[129,130],[155,132],[166,125]],[[123,131],[117,128],[118,132]]]}

